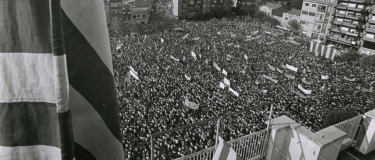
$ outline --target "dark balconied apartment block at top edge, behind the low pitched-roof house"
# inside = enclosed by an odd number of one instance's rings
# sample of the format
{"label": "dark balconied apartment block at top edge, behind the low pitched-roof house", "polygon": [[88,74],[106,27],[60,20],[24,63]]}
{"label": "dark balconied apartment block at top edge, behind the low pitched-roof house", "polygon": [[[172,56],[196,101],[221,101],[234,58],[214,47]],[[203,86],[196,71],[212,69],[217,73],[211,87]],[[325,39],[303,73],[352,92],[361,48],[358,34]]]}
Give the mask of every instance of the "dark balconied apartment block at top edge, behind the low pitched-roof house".
{"label": "dark balconied apartment block at top edge, behind the low pitched-roof house", "polygon": [[290,0],[237,0],[237,7],[245,12],[245,15],[254,15],[259,12],[259,7],[267,3],[279,4],[289,8]]}

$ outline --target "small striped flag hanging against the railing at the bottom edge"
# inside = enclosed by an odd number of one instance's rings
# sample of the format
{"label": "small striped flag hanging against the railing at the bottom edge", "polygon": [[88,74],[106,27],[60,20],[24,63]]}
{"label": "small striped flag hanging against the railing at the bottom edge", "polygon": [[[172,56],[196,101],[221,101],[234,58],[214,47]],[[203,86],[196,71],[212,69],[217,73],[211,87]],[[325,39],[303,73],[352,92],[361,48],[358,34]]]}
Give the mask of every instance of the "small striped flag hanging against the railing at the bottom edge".
{"label": "small striped flag hanging against the railing at the bottom edge", "polygon": [[221,136],[218,137],[219,144],[217,145],[215,154],[212,160],[242,160],[242,158],[226,143]]}

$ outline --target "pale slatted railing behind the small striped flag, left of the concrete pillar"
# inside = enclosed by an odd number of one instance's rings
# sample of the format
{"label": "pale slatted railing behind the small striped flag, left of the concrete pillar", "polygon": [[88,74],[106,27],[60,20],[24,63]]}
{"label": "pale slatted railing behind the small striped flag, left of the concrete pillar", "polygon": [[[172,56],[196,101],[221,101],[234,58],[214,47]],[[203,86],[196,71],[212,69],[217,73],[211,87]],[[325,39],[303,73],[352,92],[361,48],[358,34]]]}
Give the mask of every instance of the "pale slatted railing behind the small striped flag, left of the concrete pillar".
{"label": "pale slatted railing behind the small striped flag, left of the concrete pillar", "polygon": [[[227,143],[242,157],[242,159],[258,160],[265,154],[264,147],[267,147],[267,145],[265,145],[267,142],[264,141],[264,137],[266,136],[266,133],[266,129],[263,129],[239,139],[233,139]],[[210,147],[175,160],[211,160],[214,153],[214,148]]]}

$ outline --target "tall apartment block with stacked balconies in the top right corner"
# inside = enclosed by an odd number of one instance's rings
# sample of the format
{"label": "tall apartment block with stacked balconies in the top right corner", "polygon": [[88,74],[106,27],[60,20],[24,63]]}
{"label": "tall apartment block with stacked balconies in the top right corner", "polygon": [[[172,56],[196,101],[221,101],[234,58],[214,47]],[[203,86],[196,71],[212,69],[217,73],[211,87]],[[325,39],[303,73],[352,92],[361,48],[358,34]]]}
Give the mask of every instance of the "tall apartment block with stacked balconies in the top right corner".
{"label": "tall apartment block with stacked balconies in the top right corner", "polygon": [[374,0],[338,0],[327,43],[375,50],[373,4]]}

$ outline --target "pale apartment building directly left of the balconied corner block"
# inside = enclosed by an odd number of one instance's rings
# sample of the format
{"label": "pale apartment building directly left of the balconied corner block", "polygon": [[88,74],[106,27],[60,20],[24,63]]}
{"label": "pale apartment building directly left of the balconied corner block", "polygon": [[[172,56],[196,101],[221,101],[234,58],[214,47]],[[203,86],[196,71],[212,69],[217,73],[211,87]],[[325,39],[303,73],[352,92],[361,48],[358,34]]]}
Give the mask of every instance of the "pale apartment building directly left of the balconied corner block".
{"label": "pale apartment building directly left of the balconied corner block", "polygon": [[312,39],[326,41],[335,5],[335,0],[304,0],[300,15],[302,34]]}

